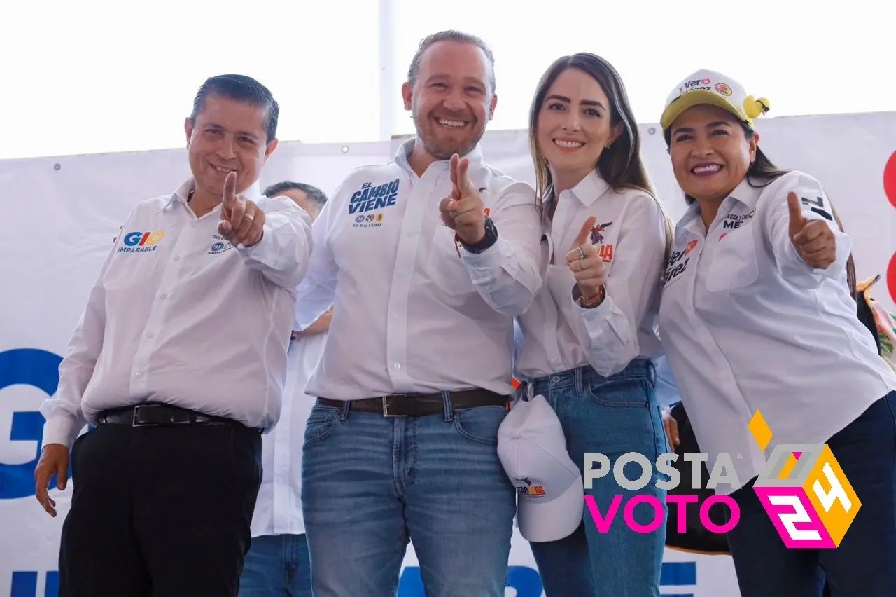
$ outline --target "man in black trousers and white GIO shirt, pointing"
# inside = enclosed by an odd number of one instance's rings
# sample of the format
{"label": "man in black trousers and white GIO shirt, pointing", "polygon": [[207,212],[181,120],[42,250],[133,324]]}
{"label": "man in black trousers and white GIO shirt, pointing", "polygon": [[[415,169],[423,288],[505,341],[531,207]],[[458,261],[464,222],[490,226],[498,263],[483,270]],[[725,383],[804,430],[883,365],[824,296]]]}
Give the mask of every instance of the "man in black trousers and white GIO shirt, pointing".
{"label": "man in black trousers and white GIO shirt, pointing", "polygon": [[193,176],[134,207],[90,290],[41,407],[53,516],[72,450],[60,597],[237,595],[312,248],[308,214],[258,192],[278,114],[254,79],[208,79],[185,120]]}

